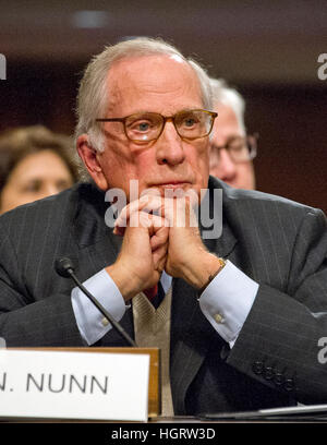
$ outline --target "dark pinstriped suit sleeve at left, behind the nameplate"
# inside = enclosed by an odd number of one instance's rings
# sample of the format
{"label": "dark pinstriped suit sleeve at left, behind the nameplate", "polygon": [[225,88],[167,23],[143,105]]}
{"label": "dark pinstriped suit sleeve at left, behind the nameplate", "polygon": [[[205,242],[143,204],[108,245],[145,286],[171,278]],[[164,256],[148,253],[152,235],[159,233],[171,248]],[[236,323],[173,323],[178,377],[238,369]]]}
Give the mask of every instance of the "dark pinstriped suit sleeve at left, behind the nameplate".
{"label": "dark pinstriped suit sleeve at left, behind the nameplate", "polygon": [[0,230],[0,337],[7,347],[83,346],[70,297],[59,292],[34,299],[3,227]]}

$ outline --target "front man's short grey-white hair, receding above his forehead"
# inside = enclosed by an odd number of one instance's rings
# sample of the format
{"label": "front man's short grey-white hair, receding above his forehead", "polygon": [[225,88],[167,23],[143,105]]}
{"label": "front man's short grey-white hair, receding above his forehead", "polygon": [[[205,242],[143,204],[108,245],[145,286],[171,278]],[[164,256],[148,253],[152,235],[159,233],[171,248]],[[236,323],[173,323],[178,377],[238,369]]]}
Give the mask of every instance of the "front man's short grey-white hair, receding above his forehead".
{"label": "front man's short grey-white hair, receding above his forehead", "polygon": [[117,61],[152,55],[178,56],[189,63],[198,79],[204,107],[208,110],[211,108],[210,81],[206,71],[197,62],[185,58],[177,48],[162,39],[137,37],[106,47],[86,67],[77,96],[75,139],[87,133],[94,148],[99,152],[105,149],[101,127],[95,122],[95,119],[102,117],[108,106],[108,72]]}

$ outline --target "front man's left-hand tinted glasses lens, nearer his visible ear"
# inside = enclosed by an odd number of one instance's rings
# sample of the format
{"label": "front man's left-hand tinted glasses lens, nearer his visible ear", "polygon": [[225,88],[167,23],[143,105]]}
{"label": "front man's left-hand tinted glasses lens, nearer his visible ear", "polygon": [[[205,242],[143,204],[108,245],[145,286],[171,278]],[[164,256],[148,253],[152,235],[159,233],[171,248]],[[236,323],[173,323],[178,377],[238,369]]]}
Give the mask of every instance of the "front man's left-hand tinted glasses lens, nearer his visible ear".
{"label": "front man's left-hand tinted glasses lens, nearer his visible ear", "polygon": [[162,116],[155,112],[132,115],[125,120],[125,132],[132,141],[153,141],[160,134],[162,124]]}

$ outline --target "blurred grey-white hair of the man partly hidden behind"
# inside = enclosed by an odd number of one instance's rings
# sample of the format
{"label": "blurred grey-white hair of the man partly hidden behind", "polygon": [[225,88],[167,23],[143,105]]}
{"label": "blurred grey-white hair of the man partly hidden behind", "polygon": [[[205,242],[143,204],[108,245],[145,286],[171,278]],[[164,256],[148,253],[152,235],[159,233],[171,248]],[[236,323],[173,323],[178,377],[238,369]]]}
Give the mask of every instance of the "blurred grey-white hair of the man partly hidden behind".
{"label": "blurred grey-white hair of the man partly hidden behind", "polygon": [[228,86],[223,79],[210,79],[211,94],[214,106],[217,104],[227,105],[237,116],[242,133],[245,135],[245,101],[237,89]]}

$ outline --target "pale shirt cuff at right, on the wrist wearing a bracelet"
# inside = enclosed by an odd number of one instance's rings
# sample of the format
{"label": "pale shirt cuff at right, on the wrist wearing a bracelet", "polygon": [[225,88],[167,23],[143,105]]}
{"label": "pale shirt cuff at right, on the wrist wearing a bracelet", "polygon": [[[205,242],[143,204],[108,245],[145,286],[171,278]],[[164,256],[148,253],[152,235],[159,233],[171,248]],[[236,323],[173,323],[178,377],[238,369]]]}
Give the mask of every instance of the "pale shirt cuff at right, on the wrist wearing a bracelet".
{"label": "pale shirt cuff at right, on the wrist wearing a bracelet", "polygon": [[199,308],[217,333],[232,348],[249,315],[258,284],[230,261],[199,297]]}

